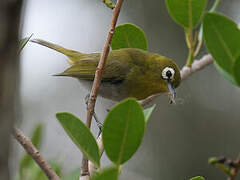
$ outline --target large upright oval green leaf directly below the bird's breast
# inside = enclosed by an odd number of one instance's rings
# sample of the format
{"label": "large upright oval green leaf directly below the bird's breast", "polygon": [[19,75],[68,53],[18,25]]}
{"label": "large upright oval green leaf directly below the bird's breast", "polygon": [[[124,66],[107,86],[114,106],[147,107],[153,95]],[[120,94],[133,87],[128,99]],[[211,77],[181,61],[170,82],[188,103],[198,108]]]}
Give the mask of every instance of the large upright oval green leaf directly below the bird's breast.
{"label": "large upright oval green leaf directly below the bird's breast", "polygon": [[103,124],[103,145],[109,159],[117,165],[137,151],[145,130],[142,107],[135,99],[126,99],[112,108]]}

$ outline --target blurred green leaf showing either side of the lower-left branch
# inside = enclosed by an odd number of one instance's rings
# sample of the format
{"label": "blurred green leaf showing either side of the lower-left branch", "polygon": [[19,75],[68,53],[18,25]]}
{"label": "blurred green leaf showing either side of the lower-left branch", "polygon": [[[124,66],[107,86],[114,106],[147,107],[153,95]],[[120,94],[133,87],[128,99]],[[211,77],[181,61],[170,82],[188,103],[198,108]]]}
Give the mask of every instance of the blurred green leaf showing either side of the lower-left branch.
{"label": "blurred green leaf showing either side of the lower-left branch", "polygon": [[[42,131],[43,131],[42,129],[43,129],[42,124],[38,124],[33,130],[33,135],[31,140],[33,145],[37,149],[40,149],[41,140],[42,140]],[[24,168],[27,168],[31,163],[33,163],[32,157],[29,156],[28,154],[25,154],[20,160],[20,166],[19,166],[20,175],[23,174]]]}

